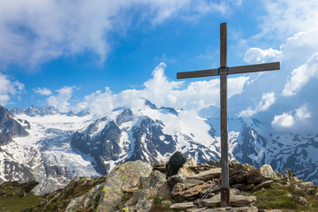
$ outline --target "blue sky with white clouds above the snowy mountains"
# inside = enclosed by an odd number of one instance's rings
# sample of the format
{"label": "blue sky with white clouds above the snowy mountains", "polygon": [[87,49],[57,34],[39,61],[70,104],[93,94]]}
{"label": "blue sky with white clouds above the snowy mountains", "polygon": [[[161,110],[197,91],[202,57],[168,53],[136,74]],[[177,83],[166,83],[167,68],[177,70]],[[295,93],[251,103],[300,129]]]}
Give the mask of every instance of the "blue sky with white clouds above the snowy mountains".
{"label": "blue sky with white clouds above the snowy mountains", "polygon": [[105,113],[140,98],[198,112],[218,107],[218,78],[177,72],[281,62],[229,76],[229,113],[279,132],[317,133],[318,3],[307,0],[40,1],[0,3],[0,104]]}

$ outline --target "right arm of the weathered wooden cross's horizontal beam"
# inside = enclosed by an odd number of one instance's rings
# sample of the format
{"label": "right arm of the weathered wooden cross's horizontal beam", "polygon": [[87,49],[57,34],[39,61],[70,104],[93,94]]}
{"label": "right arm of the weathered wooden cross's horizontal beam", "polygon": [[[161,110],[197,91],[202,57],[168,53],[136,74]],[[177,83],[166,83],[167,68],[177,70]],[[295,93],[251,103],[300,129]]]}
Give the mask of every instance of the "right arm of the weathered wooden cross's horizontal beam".
{"label": "right arm of the weathered wooden cross's horizontal beam", "polygon": [[241,66],[231,67],[229,68],[229,74],[245,73],[245,72],[264,72],[264,71],[274,71],[279,69],[280,69],[279,62],[268,63],[268,64],[250,64],[250,65],[241,65]]}

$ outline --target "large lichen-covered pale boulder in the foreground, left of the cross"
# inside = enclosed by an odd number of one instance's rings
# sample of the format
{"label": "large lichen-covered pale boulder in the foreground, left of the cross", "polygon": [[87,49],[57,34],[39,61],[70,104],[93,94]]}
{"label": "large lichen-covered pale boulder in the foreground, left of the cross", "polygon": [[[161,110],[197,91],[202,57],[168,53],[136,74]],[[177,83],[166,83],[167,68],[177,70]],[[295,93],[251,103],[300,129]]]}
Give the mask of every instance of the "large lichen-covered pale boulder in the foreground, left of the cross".
{"label": "large lichen-covered pale boulder in the foreground, left of the cross", "polygon": [[[102,185],[95,186],[87,194],[74,199],[65,211],[88,210],[89,208],[87,207],[89,205],[95,206],[96,211],[105,212],[112,212],[123,208],[123,190],[129,190],[139,186],[140,181],[142,181],[141,178],[148,178],[151,173],[152,166],[149,163],[141,161],[124,163],[114,170],[111,170]],[[157,171],[157,173],[161,172]],[[163,174],[160,179],[162,178],[164,178]],[[148,189],[148,187],[145,189]],[[146,193],[147,191],[137,194],[146,196]],[[140,202],[143,200],[145,199],[141,199]]]}

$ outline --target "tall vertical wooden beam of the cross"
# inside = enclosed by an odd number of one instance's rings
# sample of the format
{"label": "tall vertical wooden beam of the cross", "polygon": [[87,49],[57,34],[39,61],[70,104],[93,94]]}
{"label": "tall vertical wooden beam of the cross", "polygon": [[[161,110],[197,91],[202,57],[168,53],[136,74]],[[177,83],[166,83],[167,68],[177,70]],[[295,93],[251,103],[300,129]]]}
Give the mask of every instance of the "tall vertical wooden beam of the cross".
{"label": "tall vertical wooden beam of the cross", "polygon": [[227,124],[227,26],[220,26],[220,117],[221,117],[221,206],[230,206],[229,146]]}

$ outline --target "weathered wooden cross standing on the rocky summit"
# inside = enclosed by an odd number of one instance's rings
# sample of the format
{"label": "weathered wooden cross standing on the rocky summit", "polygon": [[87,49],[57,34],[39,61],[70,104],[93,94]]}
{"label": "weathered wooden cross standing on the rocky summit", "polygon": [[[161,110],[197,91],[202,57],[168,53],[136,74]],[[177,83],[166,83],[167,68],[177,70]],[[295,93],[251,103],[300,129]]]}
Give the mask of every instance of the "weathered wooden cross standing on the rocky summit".
{"label": "weathered wooden cross standing on the rocky summit", "polygon": [[227,75],[246,72],[263,72],[279,70],[280,64],[251,64],[242,66],[227,66],[227,25],[220,25],[220,68],[208,69],[194,72],[178,72],[177,79],[209,77],[220,75],[220,113],[221,113],[221,168],[222,168],[222,188],[221,205],[230,206],[230,188],[229,188],[229,147],[228,147],[228,124],[227,124]]}

